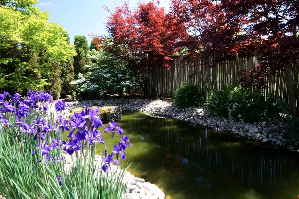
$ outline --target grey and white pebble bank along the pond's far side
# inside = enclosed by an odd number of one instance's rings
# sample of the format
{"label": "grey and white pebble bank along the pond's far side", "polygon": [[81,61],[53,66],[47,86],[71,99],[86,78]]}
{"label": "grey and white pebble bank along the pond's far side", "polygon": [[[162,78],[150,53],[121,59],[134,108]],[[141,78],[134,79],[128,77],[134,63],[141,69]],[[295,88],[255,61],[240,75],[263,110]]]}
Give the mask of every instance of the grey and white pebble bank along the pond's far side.
{"label": "grey and white pebble bank along the pond's far side", "polygon": [[205,108],[189,107],[180,109],[172,102],[148,99],[113,99],[113,100],[87,100],[70,102],[69,113],[74,108],[87,106],[118,106],[125,111],[142,111],[150,116],[165,116],[178,119],[194,126],[213,128],[218,132],[234,134],[240,138],[273,146],[285,146],[290,150],[299,152],[298,143],[295,140],[285,138],[285,132],[281,129],[286,127],[276,118],[268,118],[268,121],[246,123],[233,118],[219,118],[210,116]]}

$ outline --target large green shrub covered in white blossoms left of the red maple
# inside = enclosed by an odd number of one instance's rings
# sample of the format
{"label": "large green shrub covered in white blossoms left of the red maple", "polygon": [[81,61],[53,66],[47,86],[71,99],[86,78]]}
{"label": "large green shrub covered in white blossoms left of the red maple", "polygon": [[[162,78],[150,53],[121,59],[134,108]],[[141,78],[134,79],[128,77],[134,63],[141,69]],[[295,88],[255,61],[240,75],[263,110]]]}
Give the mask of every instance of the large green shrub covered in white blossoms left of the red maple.
{"label": "large green shrub covered in white blossoms left of the red maple", "polygon": [[103,48],[92,49],[88,56],[92,64],[85,66],[87,72],[79,74],[78,80],[71,83],[76,85],[79,93],[122,93],[124,88],[132,86],[131,71],[126,62],[112,57]]}

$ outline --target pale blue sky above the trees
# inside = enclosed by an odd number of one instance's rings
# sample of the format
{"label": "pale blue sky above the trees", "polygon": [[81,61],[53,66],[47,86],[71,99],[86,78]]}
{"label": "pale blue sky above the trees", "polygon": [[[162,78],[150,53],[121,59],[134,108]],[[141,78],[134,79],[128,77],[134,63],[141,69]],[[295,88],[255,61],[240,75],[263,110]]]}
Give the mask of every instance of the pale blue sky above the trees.
{"label": "pale blue sky above the trees", "polygon": [[[136,7],[138,1],[129,0],[131,10]],[[88,34],[107,35],[105,22],[109,13],[103,6],[113,10],[121,4],[120,0],[39,0],[37,7],[50,13],[51,23],[58,23],[67,30],[71,43],[75,35],[85,35],[90,43],[91,38]],[[170,0],[160,0],[160,5],[169,10]]]}

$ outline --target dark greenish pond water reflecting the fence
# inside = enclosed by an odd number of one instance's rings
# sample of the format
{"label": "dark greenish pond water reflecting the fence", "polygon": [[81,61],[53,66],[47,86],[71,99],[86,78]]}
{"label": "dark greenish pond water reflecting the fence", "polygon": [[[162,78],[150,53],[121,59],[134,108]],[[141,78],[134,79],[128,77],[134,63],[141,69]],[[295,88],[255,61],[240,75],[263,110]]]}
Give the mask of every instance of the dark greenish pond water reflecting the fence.
{"label": "dark greenish pond water reflecting the fence", "polygon": [[166,199],[299,198],[296,153],[139,112],[123,114],[119,124],[133,144],[129,171],[158,185]]}

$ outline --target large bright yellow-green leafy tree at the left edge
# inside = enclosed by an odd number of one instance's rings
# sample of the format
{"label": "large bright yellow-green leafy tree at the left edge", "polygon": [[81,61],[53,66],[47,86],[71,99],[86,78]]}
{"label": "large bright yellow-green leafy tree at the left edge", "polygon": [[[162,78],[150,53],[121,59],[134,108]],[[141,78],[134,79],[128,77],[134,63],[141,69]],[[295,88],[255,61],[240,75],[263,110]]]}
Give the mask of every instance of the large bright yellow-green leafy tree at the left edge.
{"label": "large bright yellow-green leafy tree at the left edge", "polygon": [[66,30],[36,3],[0,0],[0,90],[61,90],[62,63],[76,55]]}

